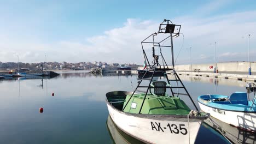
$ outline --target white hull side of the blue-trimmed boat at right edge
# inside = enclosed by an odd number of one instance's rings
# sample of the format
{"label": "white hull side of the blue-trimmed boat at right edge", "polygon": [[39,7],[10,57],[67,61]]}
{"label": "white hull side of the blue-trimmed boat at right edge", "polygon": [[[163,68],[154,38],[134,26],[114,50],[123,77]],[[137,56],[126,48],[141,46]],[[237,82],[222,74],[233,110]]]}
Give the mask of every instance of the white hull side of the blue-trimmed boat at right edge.
{"label": "white hull side of the blue-trimmed boat at right edge", "polygon": [[200,109],[225,123],[249,131],[256,131],[256,113],[219,110],[199,103]]}

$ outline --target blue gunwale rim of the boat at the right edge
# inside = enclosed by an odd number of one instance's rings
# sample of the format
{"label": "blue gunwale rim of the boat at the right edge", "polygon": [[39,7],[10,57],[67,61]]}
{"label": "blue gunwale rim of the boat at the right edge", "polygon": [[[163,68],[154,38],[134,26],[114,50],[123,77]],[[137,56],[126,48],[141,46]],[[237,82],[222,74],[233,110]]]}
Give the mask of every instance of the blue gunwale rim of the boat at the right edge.
{"label": "blue gunwale rim of the boat at the right edge", "polygon": [[[201,95],[201,96],[203,96],[203,95]],[[205,101],[205,102],[207,102],[207,103],[208,103],[208,101],[205,100],[205,99],[202,99],[201,96],[199,96],[199,97],[197,98],[197,101],[198,101],[200,104],[205,105],[205,106],[208,106],[208,107],[216,108],[216,109],[219,109],[219,110],[232,111],[232,112],[256,113],[256,111],[231,110],[231,109],[224,109],[223,107],[216,107],[216,106],[213,106],[213,105],[211,105],[211,104],[206,104],[206,103],[203,103],[203,101]],[[226,96],[226,95],[224,95],[224,96]],[[212,102],[210,102],[210,103],[212,103]],[[218,104],[218,103],[212,103],[212,104],[214,104],[214,105],[225,105],[225,104]],[[236,106],[232,106],[232,104],[231,104],[231,105],[225,105],[225,106],[236,107]],[[248,109],[248,107],[241,107],[241,108]],[[252,109],[254,110],[255,108],[252,108]]]}

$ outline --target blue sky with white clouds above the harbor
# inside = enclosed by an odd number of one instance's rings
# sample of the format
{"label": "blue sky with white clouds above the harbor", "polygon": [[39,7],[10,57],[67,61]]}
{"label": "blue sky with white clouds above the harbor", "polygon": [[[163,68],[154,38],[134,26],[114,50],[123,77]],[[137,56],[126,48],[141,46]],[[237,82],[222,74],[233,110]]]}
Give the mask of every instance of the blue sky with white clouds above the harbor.
{"label": "blue sky with white clouds above the harbor", "polygon": [[176,64],[214,63],[214,46],[217,62],[248,61],[248,51],[256,61],[253,0],[0,0],[0,61],[143,64],[141,41],[164,19],[182,25]]}

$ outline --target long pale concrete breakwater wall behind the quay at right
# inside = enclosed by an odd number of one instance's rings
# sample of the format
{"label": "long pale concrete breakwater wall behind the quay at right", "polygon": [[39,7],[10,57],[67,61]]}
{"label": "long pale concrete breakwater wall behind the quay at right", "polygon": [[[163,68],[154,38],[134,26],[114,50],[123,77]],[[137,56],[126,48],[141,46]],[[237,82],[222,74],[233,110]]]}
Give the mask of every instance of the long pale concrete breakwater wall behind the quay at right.
{"label": "long pale concrete breakwater wall behind the quay at right", "polygon": [[[211,69],[210,66],[213,66]],[[200,69],[201,71],[214,71],[215,64],[187,64],[187,65],[175,65],[175,70],[177,71],[193,71],[194,69]],[[256,72],[256,62],[222,62],[217,63],[217,68],[219,71],[239,71],[248,72],[249,67],[251,67],[252,72]]]}

